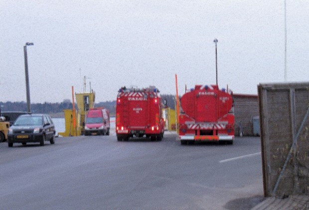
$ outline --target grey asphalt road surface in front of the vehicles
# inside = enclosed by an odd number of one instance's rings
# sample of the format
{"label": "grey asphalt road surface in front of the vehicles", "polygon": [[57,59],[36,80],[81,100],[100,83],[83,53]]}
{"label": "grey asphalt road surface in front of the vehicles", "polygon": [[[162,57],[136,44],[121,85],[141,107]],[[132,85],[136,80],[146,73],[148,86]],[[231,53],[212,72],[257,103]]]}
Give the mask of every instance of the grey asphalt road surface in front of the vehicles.
{"label": "grey asphalt road surface in front of the vehicles", "polygon": [[0,210],[246,210],[263,200],[258,137],[233,145],[58,137],[0,143]]}

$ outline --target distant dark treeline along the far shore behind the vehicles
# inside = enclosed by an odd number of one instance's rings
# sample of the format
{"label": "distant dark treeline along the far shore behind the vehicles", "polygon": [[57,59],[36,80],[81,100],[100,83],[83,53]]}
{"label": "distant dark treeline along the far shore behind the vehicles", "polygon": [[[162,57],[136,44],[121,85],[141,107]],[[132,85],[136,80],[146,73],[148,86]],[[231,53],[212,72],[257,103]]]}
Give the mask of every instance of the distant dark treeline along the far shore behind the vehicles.
{"label": "distant dark treeline along the far shore behind the vehicles", "polygon": [[[175,96],[173,95],[161,95],[162,103],[170,108],[175,108]],[[111,115],[116,113],[116,101],[107,101],[96,103],[95,107],[105,107],[109,109]],[[0,102],[1,111],[27,111],[26,102]],[[75,108],[77,105],[75,104]],[[72,103],[70,100],[64,100],[61,103],[48,103],[43,104],[31,104],[32,113],[62,113],[64,109],[72,109]]]}

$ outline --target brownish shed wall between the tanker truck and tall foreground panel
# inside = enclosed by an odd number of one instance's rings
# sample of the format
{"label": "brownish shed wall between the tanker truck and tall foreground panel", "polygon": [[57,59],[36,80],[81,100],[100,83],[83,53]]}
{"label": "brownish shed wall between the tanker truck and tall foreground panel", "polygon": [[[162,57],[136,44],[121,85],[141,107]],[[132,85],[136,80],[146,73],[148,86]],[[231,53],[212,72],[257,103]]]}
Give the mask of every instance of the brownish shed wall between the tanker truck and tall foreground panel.
{"label": "brownish shed wall between the tanker truck and tall foreground panel", "polygon": [[254,136],[253,118],[259,116],[257,95],[234,94],[235,135],[240,134],[240,124],[245,136]]}

